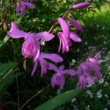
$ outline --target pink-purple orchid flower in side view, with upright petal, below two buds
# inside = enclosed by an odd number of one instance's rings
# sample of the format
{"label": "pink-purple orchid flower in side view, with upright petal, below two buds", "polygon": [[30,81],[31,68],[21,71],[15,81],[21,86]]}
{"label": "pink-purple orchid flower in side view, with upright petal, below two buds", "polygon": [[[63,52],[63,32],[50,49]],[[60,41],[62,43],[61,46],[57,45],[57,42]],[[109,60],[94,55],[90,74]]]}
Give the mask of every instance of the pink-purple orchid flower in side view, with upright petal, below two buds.
{"label": "pink-purple orchid flower in side view, with upright petal, below two buds", "polygon": [[68,52],[69,47],[72,45],[71,40],[75,42],[81,42],[81,39],[76,33],[70,32],[69,26],[63,18],[58,18],[58,22],[62,28],[62,32],[58,32],[58,37],[60,40],[58,52],[61,50],[61,48],[62,53]]}

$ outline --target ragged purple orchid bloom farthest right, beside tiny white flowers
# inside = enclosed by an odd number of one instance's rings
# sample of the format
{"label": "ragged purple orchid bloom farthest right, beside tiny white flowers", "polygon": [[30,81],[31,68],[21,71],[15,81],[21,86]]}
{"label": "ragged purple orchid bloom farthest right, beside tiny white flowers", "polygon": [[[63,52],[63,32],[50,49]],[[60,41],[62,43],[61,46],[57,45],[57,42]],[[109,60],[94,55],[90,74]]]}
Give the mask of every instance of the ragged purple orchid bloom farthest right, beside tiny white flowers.
{"label": "ragged purple orchid bloom farthest right, beside tiny white flowers", "polygon": [[[102,75],[99,71],[99,64],[99,61],[95,58],[89,58],[88,61],[82,62],[79,65],[77,70],[77,88],[84,89],[87,85],[94,83],[96,79],[101,79]],[[91,72],[95,73],[96,78],[91,75]]]}

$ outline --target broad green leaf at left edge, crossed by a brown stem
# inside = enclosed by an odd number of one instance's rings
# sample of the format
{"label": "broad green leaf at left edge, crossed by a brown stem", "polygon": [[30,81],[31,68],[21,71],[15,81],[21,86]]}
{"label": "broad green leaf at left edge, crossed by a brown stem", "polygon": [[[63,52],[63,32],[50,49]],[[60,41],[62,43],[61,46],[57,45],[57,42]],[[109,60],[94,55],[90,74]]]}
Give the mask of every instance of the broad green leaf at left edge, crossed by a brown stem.
{"label": "broad green leaf at left edge, crossed by a brown stem", "polygon": [[[10,75],[8,75],[9,71],[16,65],[15,62],[9,62],[6,64],[0,64],[0,98],[2,98],[9,85],[14,81],[14,79],[18,76],[21,75],[21,73],[14,73],[15,71],[12,71]],[[4,76],[6,76],[4,78]]]}

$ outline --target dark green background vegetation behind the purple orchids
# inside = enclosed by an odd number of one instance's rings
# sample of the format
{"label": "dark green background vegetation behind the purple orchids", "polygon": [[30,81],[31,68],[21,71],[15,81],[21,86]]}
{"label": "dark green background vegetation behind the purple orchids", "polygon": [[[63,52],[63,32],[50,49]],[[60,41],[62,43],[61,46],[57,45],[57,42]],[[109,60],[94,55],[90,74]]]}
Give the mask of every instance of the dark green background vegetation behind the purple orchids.
{"label": "dark green background vegetation behind the purple orchids", "polygon": [[[93,5],[87,9],[77,11],[71,10],[66,16],[66,18],[73,17],[80,21],[84,25],[85,31],[79,33],[83,40],[81,44],[74,43],[69,53],[60,55],[66,59],[64,65],[67,68],[70,66],[69,63],[72,59],[75,59],[77,62],[72,66],[75,69],[79,62],[84,61],[88,56],[92,56],[94,52],[102,50],[102,65],[100,69],[103,73],[104,81],[102,80],[100,83],[97,82],[93,86],[82,91],[75,99],[73,98],[71,101],[57,107],[55,110],[73,110],[73,108],[75,110],[88,110],[89,108],[90,110],[110,109],[110,4],[105,2],[105,0],[99,1],[99,3],[93,3]],[[63,2],[62,0],[38,0],[34,3],[36,4],[36,9],[28,10],[18,25],[20,29],[27,32],[49,30],[57,18],[63,16],[72,2],[70,0],[64,0]],[[3,5],[4,7],[9,6],[8,1],[3,3]],[[19,18],[19,15],[15,14],[14,8],[15,3],[10,4],[5,17],[8,30],[10,29],[10,22],[17,21]],[[0,9],[1,14],[4,10],[5,8]],[[54,28],[53,33],[55,33],[56,38],[46,43],[45,46],[42,46],[42,51],[57,52],[59,42],[56,32],[58,30],[59,27]],[[5,36],[6,32],[0,28],[0,43],[2,43]],[[31,77],[30,73],[33,63],[30,59],[27,60],[27,69],[24,70],[23,63],[20,63],[22,60],[22,42],[23,39],[14,40],[10,38],[5,45],[0,47],[0,102],[4,110],[17,110],[18,107],[20,108],[34,94],[39,92],[33,100],[22,108],[22,110],[33,110],[45,101],[55,97],[59,92],[57,91],[58,88],[53,89],[50,86],[52,72],[47,72],[46,76],[41,79],[39,67],[35,75]],[[16,64],[18,64],[17,68],[6,77],[5,74],[8,74],[10,69],[15,67]],[[75,78],[67,76],[66,80],[65,87],[61,91],[62,93],[75,89],[76,86]]]}

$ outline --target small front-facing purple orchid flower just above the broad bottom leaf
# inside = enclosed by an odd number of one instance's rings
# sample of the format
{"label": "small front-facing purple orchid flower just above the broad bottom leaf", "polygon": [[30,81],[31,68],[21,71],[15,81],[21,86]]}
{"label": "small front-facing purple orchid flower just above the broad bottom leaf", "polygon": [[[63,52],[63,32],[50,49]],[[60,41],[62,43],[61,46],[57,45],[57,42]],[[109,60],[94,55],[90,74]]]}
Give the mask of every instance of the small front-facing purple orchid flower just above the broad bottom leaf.
{"label": "small front-facing purple orchid flower just above the broad bottom leaf", "polygon": [[59,86],[60,89],[63,89],[63,86],[65,84],[65,77],[64,74],[68,74],[70,76],[75,76],[77,73],[73,69],[65,69],[64,65],[61,65],[59,68],[57,68],[55,65],[49,63],[50,70],[54,70],[56,73],[51,78],[51,85],[52,87]]}

